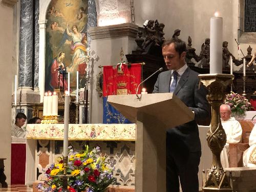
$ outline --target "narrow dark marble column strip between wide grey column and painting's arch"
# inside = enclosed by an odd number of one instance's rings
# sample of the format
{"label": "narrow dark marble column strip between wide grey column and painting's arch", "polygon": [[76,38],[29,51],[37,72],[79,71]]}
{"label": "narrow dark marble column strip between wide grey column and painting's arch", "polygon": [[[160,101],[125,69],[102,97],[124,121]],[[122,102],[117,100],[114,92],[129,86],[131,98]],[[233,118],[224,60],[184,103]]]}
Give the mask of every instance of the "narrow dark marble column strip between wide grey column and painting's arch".
{"label": "narrow dark marble column strip between wide grey column and painting's arch", "polygon": [[34,58],[34,91],[39,91],[38,77],[39,77],[39,1],[35,1],[35,58]]}

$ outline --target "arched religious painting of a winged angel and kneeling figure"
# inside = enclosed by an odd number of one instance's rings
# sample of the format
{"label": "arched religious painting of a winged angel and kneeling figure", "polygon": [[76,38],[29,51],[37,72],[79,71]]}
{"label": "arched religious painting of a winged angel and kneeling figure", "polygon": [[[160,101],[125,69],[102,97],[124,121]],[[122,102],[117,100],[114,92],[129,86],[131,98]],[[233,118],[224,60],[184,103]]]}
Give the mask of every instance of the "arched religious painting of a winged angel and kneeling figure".
{"label": "arched religious painting of a winged angel and kneeling figure", "polygon": [[88,0],[53,0],[47,10],[45,91],[76,90],[86,70]]}

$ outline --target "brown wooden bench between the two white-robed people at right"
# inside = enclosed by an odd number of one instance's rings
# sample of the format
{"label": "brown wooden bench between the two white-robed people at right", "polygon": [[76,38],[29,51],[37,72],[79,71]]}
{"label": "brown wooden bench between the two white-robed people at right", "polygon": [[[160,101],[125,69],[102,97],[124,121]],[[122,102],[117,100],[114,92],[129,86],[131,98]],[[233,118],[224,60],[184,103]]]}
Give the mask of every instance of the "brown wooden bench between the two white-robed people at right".
{"label": "brown wooden bench between the two white-robed people at right", "polygon": [[229,143],[229,167],[243,167],[243,153],[249,148],[249,136],[254,124],[252,121],[239,121],[242,126],[240,143]]}

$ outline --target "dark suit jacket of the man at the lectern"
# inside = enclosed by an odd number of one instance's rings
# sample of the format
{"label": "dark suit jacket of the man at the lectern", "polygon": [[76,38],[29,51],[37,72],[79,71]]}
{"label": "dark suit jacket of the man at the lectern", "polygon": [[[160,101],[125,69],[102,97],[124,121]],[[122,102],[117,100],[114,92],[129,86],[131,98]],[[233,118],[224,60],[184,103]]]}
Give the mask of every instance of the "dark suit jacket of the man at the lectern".
{"label": "dark suit jacket of the man at the lectern", "polygon": [[[195,112],[195,120],[176,126],[167,131],[171,144],[167,146],[172,153],[201,151],[201,142],[196,120],[209,115],[209,104],[206,100],[206,88],[201,84],[199,88],[199,73],[189,67],[180,77],[174,94],[179,97],[191,111]],[[172,71],[159,74],[153,93],[168,93]],[[182,117],[181,117],[182,118]],[[186,153],[184,153],[186,154]]]}

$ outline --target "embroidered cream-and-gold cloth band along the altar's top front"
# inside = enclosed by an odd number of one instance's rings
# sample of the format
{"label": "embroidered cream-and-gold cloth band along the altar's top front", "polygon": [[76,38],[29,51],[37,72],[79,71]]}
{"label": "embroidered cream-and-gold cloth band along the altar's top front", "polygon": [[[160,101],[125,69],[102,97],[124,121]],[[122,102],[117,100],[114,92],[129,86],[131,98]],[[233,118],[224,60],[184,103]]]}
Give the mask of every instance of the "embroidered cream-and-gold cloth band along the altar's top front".
{"label": "embroidered cream-and-gold cloth band along the altar's top front", "polygon": [[[69,140],[135,141],[135,124],[69,124]],[[27,139],[62,140],[64,124],[27,124]]]}

